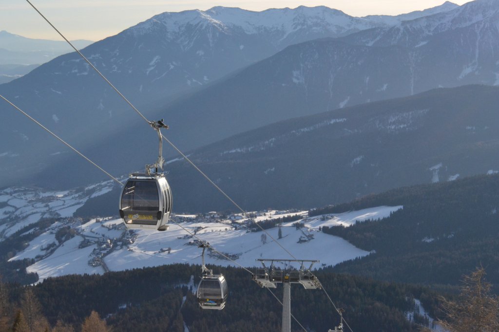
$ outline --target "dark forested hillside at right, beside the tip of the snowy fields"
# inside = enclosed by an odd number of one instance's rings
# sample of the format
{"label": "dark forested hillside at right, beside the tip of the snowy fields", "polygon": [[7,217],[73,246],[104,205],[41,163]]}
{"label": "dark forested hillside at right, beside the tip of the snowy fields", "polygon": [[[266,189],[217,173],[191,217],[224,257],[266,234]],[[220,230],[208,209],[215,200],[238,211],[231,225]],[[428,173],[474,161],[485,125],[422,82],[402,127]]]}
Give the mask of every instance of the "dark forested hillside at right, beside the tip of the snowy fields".
{"label": "dark forested hillside at right, beside the tip of the snowy fields", "polygon": [[375,253],[332,270],[381,280],[456,285],[483,265],[499,282],[499,175],[418,185],[310,211],[313,215],[403,205],[389,218],[351,227],[324,227]]}

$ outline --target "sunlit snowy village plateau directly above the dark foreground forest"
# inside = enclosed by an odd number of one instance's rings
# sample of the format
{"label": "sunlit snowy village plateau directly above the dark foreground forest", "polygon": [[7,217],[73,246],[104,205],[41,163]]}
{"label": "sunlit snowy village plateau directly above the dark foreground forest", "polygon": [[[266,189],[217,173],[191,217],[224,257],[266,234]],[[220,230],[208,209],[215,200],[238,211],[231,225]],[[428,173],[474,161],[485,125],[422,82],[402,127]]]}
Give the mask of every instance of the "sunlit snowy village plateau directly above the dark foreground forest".
{"label": "sunlit snowy village plateau directly above the dark foreground forest", "polygon": [[[257,258],[291,259],[282,247],[297,259],[319,260],[315,267],[336,265],[345,260],[366,256],[369,253],[356,248],[344,239],[322,233],[319,226],[343,224],[351,225],[357,220],[376,219],[389,215],[401,207],[380,207],[362,211],[352,211],[339,215],[327,215],[300,220],[305,224],[297,229],[293,223],[281,227],[282,238],[278,239],[278,227],[264,232],[250,232],[243,226],[245,220],[232,223],[230,220],[194,220],[181,225],[191,233],[210,243],[217,251],[230,256],[230,261],[216,252],[206,254],[206,263],[222,266],[257,266]],[[293,214],[293,213],[291,213]],[[280,217],[286,214],[274,215]],[[268,216],[266,217],[269,218]],[[261,219],[261,218],[260,218]],[[324,219],[324,220],[321,220]],[[14,259],[34,258],[43,255],[43,248],[56,241],[52,226],[29,246],[18,253]],[[120,219],[99,222],[95,219],[75,227],[77,235],[59,245],[48,257],[28,267],[28,272],[38,273],[40,280],[47,277],[67,274],[103,273],[133,268],[160,266],[165,264],[201,263],[201,249],[197,239],[174,222],[165,232],[139,230],[129,231]],[[308,235],[306,241],[301,241]],[[312,236],[310,236],[312,235]],[[262,239],[262,236],[265,239]],[[86,247],[82,247],[82,243]],[[92,264],[93,263],[93,264]],[[92,266],[93,265],[93,266]]]}

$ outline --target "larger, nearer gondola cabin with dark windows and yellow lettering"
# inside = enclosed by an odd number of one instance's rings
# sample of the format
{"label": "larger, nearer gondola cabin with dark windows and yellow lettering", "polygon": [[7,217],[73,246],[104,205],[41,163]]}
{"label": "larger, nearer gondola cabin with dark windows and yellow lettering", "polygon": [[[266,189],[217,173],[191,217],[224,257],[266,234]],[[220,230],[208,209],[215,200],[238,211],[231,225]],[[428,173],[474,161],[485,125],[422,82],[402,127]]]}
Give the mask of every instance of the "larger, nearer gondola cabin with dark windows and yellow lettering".
{"label": "larger, nearer gondola cabin with dark windows and yellow lettering", "polygon": [[131,174],[121,191],[119,210],[127,228],[166,230],[171,210],[172,192],[163,174]]}

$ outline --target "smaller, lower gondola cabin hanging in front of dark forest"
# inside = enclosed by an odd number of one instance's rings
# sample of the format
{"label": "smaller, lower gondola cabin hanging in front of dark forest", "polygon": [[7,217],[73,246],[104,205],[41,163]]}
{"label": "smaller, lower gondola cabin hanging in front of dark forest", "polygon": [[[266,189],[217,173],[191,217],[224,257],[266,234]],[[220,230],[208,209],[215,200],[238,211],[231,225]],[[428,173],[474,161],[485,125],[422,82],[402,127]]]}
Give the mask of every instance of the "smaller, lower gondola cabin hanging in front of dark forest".
{"label": "smaller, lower gondola cabin hanging in front of dark forest", "polygon": [[205,275],[199,282],[196,296],[202,309],[225,308],[229,290],[223,275]]}

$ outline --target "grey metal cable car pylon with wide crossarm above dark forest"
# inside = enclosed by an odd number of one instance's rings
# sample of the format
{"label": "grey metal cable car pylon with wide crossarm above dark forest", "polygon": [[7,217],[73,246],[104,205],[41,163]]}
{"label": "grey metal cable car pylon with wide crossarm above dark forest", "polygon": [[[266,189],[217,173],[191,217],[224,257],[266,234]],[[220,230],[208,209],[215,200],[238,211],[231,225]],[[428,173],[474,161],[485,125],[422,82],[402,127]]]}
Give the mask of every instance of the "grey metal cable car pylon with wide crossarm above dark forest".
{"label": "grey metal cable car pylon with wide crossarm above dark forest", "polygon": [[[291,284],[301,284],[305,289],[322,289],[322,284],[310,270],[318,260],[296,260],[296,259],[257,259],[261,262],[263,268],[256,269],[253,280],[260,286],[266,288],[276,288],[277,284],[283,284],[284,295],[282,299],[282,329],[281,332],[291,332]],[[270,267],[265,266],[265,262],[270,262]],[[289,268],[281,270],[276,269],[274,262],[279,263],[301,263],[299,270]],[[311,263],[306,269],[303,263]],[[285,265],[286,266],[286,265]]]}

